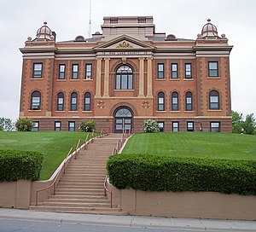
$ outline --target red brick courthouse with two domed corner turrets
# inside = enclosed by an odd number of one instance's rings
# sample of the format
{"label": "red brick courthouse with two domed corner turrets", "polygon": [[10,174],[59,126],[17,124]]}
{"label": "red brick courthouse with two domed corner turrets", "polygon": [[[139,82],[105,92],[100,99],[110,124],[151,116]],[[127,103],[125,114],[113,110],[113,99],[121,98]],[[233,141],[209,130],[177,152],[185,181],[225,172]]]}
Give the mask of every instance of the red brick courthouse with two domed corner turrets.
{"label": "red brick courthouse with two domed corner turrets", "polygon": [[231,132],[230,50],[211,20],[194,39],[156,33],[153,17],[104,17],[102,33],[56,42],[40,27],[23,54],[20,117],[34,130]]}

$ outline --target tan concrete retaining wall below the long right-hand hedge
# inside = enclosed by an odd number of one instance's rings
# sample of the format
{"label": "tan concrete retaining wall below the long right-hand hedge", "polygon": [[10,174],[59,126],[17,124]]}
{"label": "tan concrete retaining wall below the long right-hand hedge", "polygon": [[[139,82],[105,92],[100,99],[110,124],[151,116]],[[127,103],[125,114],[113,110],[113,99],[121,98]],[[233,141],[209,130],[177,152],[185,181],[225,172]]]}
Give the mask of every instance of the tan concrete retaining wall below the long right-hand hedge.
{"label": "tan concrete retaining wall below the long right-hand hedge", "polygon": [[[113,205],[130,215],[256,220],[256,196],[214,192],[112,189]],[[108,197],[110,195],[108,194]]]}

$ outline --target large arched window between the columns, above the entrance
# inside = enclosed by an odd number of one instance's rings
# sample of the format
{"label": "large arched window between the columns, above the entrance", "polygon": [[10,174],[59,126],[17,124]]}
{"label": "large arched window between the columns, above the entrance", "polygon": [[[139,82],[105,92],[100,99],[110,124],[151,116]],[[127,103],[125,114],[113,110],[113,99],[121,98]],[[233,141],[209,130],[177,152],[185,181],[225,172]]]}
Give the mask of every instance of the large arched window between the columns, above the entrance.
{"label": "large arched window between the columns, above the entrance", "polygon": [[129,66],[120,66],[115,77],[116,90],[133,90],[133,73]]}

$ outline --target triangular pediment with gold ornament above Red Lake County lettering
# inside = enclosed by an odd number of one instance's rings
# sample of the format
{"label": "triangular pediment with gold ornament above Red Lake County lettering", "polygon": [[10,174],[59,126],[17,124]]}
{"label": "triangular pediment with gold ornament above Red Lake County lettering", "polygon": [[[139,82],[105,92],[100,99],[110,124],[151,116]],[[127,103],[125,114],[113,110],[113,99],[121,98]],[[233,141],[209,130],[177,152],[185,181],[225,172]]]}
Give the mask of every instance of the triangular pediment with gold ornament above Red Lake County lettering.
{"label": "triangular pediment with gold ornament above Red Lake County lettering", "polygon": [[95,50],[129,50],[129,49],[146,49],[153,50],[154,46],[144,43],[137,38],[131,38],[129,36],[123,35],[118,38],[113,38],[108,42],[101,44],[94,48]]}

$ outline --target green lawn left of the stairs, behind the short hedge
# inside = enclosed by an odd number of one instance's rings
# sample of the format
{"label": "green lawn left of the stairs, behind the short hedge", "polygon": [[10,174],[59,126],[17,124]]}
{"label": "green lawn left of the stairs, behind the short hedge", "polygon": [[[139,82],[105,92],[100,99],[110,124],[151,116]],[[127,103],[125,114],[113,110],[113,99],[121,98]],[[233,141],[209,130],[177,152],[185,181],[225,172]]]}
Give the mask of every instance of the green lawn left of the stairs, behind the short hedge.
{"label": "green lawn left of the stairs, behind the short hedge", "polygon": [[[97,134],[95,133],[95,136]],[[34,150],[44,153],[40,179],[48,179],[66,158],[70,148],[76,148],[79,138],[84,142],[87,133],[68,131],[3,132],[0,149]]]}

